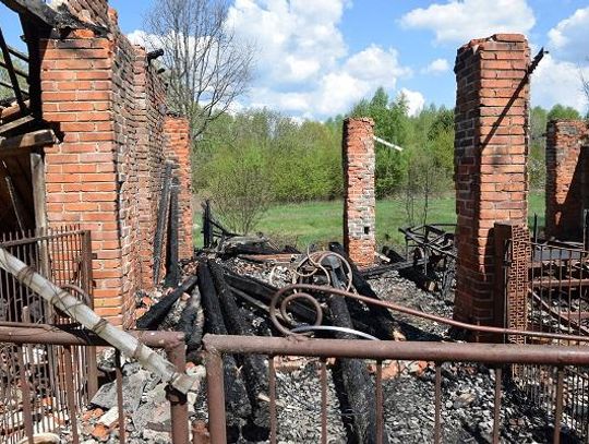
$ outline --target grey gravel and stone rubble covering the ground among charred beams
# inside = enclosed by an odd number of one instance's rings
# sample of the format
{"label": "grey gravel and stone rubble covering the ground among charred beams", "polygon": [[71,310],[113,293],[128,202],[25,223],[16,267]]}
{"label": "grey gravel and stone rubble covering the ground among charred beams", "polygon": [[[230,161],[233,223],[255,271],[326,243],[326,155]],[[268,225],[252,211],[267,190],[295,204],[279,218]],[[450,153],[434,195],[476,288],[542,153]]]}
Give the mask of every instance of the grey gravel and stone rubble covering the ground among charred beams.
{"label": "grey gravel and stone rubble covering the ground among charred beams", "polygon": [[[224,263],[242,275],[249,275],[273,285],[291,283],[287,264],[275,266],[267,263],[252,263],[231,259]],[[272,278],[271,278],[272,275]],[[420,290],[416,284],[396,272],[389,272],[370,280],[373,290],[383,299],[419,309],[424,312],[452,317],[452,297],[442,299],[435,293]],[[161,295],[156,295],[157,300]],[[145,295],[143,302],[149,302]],[[178,322],[187,298],[180,298],[164,326],[169,328]],[[271,335],[272,327],[260,311],[242,305],[242,313],[254,325],[259,335]],[[398,340],[456,340],[444,324],[393,313],[399,325]],[[278,358],[277,358],[278,359]],[[106,357],[100,367],[113,371],[111,357]],[[328,393],[328,443],[353,443],[350,433],[350,418],[354,412],[342,407],[336,387],[337,375],[332,360],[327,372]],[[366,362],[373,374],[374,364]],[[189,371],[204,375],[204,368],[195,365]],[[491,443],[493,428],[493,406],[495,372],[484,365],[453,364],[442,365],[442,441],[444,443]],[[505,376],[505,375],[504,375]],[[165,400],[164,385],[133,363],[125,364],[129,400],[125,411],[125,429],[130,443],[168,443],[169,409]],[[374,376],[372,376],[374,377]],[[434,379],[433,362],[385,361],[383,363],[383,392],[385,427],[389,443],[433,442],[434,436]],[[205,387],[189,394],[191,418],[206,421]],[[544,443],[552,441],[552,425],[545,412],[534,409],[524,394],[508,382],[503,385],[501,441],[505,443]],[[110,391],[110,392],[109,392]],[[101,424],[101,419],[116,409],[112,403],[112,386],[100,391],[104,399],[96,399],[94,410],[86,412],[82,428],[85,444],[116,443],[118,431]],[[131,394],[132,392],[132,394]],[[99,394],[100,394],[99,393]],[[316,359],[291,358],[277,362],[277,413],[278,442],[281,444],[320,442],[321,436],[321,384],[320,364]],[[98,396],[98,395],[97,395]],[[133,399],[133,400],[132,400]],[[140,399],[137,403],[136,399]],[[127,399],[125,399],[127,400]],[[167,410],[167,412],[166,412]],[[107,418],[108,419],[108,418]],[[564,441],[580,442],[565,430]],[[243,434],[235,442],[266,443],[255,441]]]}

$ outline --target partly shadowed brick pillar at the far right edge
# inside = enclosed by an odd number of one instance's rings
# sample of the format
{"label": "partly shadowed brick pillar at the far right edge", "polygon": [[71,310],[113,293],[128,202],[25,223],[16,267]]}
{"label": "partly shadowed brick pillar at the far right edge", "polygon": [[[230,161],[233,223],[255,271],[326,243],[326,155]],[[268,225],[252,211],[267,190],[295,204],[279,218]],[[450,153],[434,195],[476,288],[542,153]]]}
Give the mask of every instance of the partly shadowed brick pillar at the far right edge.
{"label": "partly shadowed brick pillar at the far right edge", "polygon": [[546,125],[545,235],[580,241],[589,193],[585,173],[589,130],[581,120],[552,120]]}

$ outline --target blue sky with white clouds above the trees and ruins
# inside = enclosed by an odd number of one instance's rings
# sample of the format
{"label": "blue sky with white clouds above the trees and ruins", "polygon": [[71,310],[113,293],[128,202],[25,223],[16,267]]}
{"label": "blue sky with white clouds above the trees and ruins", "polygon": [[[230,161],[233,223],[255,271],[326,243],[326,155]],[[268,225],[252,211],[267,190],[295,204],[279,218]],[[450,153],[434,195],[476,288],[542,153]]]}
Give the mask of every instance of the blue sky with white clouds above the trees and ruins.
{"label": "blue sky with white clouds above the trees and ruins", "polygon": [[[152,0],[110,4],[140,41]],[[551,51],[533,75],[532,104],[587,108],[579,79],[589,79],[588,0],[235,0],[230,21],[257,48],[256,76],[238,108],[324,119],[380,85],[392,97],[405,92],[413,110],[452,107],[456,48],[495,32],[525,33],[534,53]],[[9,38],[11,22],[2,13]]]}

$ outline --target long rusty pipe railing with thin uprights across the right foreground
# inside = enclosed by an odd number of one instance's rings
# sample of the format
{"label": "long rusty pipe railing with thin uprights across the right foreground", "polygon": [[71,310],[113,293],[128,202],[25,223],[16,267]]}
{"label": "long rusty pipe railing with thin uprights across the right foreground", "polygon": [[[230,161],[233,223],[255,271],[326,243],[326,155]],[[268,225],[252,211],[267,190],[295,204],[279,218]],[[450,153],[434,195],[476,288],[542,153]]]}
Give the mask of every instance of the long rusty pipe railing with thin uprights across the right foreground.
{"label": "long rusty pipe railing with thin uprights across the right foreground", "polygon": [[[277,396],[276,369],[274,357],[297,356],[318,357],[321,373],[326,372],[327,358],[353,358],[376,361],[375,392],[378,401],[374,406],[376,412],[376,439],[383,442],[385,423],[383,419],[383,388],[382,361],[383,360],[423,360],[435,362],[435,418],[434,442],[441,442],[441,411],[442,411],[442,363],[444,362],[474,362],[495,367],[495,396],[493,406],[493,442],[497,443],[501,432],[501,399],[502,399],[502,367],[507,364],[541,364],[556,369],[555,384],[554,437],[558,443],[561,439],[561,423],[564,399],[564,367],[589,365],[589,349],[585,347],[539,346],[515,344],[453,344],[453,343],[411,343],[411,341],[366,341],[347,339],[310,339],[300,337],[243,337],[206,335],[204,337],[206,352],[206,373],[208,387],[208,421],[211,442],[213,444],[226,443],[226,417],[223,355],[264,355],[268,357],[268,386],[269,388],[269,430],[271,443],[277,442]],[[322,443],[327,442],[327,395],[326,379],[321,379],[321,423]]]}

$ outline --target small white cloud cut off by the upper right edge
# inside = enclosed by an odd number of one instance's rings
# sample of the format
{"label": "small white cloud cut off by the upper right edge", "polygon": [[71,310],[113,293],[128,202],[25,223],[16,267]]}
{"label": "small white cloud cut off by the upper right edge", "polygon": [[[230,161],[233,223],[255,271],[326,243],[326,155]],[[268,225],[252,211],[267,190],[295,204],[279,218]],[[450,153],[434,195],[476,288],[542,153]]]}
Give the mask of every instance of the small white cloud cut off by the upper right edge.
{"label": "small white cloud cut off by the upper right edge", "polygon": [[549,31],[549,49],[560,60],[581,63],[589,57],[589,7],[578,9],[573,15]]}

